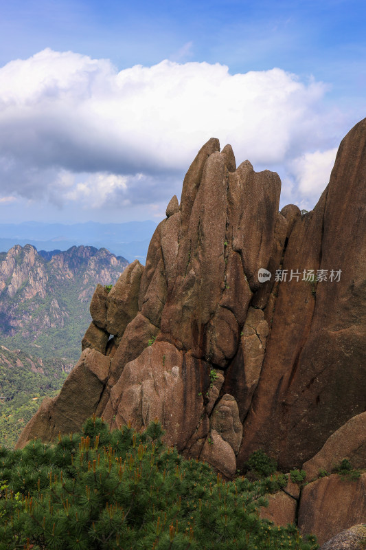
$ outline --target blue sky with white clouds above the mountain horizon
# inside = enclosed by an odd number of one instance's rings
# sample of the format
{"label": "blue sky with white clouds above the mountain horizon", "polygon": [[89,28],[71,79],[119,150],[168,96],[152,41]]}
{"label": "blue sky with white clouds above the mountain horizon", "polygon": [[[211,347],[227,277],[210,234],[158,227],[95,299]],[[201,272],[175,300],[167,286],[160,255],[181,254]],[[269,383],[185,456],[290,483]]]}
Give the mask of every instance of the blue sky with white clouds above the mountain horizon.
{"label": "blue sky with white clouds above the mountain horizon", "polygon": [[199,148],[310,209],[366,116],[366,4],[0,1],[0,220],[164,217]]}

